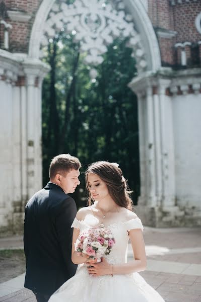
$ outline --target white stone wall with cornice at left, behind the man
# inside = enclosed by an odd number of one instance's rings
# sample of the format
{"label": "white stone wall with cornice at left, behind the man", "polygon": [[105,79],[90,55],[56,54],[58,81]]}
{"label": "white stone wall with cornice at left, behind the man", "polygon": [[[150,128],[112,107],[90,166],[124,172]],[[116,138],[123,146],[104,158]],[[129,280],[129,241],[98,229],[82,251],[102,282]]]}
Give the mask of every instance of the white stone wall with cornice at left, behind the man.
{"label": "white stone wall with cornice at left, behind the man", "polygon": [[0,66],[0,233],[13,233],[42,187],[41,85],[49,67],[4,50]]}

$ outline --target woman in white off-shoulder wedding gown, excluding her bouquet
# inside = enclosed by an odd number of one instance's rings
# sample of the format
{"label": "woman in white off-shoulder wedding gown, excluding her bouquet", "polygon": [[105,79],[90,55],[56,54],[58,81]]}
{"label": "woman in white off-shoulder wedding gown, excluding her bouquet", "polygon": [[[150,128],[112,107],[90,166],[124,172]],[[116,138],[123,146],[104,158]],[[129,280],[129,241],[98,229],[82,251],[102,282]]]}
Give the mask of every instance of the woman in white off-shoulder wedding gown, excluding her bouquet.
{"label": "woman in white off-shoulder wedding gown, excluding her bouquet", "polygon": [[[164,302],[138,274],[146,269],[143,225],[132,212],[132,201],[118,165],[102,161],[90,165],[86,171],[86,187],[89,206],[78,211],[72,224],[72,261],[79,266],[76,275],[66,281],[49,302]],[[100,224],[111,230],[115,245],[109,255],[96,263],[84,253],[78,255],[75,243],[80,232]],[[127,263],[129,239],[133,260]]]}

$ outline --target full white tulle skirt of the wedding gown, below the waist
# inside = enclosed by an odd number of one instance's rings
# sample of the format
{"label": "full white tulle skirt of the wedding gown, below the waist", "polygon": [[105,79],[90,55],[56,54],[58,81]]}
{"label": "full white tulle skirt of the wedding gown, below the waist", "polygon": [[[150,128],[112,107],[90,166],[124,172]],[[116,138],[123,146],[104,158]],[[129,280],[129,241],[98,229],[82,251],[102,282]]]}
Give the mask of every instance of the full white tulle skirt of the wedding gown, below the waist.
{"label": "full white tulle skirt of the wedding gown, below the waist", "polygon": [[126,275],[89,275],[80,266],[48,302],[164,302],[159,293],[138,273]]}

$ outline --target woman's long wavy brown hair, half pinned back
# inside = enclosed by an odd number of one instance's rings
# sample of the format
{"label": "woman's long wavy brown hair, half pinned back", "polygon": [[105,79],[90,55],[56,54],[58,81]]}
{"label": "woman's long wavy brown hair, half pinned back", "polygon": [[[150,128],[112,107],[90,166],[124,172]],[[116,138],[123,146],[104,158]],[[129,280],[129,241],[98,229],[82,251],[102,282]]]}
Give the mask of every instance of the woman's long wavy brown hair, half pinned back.
{"label": "woman's long wavy brown hair, half pinned back", "polygon": [[88,185],[88,175],[93,173],[98,175],[102,181],[107,185],[108,191],[114,202],[118,206],[125,207],[126,209],[132,211],[132,200],[129,194],[132,193],[128,189],[127,181],[122,175],[122,171],[118,168],[116,163],[109,163],[104,161],[99,161],[91,164],[85,172],[86,188],[89,193],[88,205],[92,205],[94,202]]}

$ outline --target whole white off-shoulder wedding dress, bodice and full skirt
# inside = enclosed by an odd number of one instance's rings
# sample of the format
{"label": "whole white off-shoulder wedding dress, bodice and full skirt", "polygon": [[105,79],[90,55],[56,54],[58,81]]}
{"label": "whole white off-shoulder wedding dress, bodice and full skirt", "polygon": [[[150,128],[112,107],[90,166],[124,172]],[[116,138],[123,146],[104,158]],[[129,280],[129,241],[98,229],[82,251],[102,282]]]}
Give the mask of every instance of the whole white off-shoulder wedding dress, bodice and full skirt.
{"label": "whole white off-shoulder wedding dress, bodice and full skirt", "polygon": [[[97,218],[88,214],[84,220],[75,218],[72,227],[83,232],[97,225]],[[107,225],[105,225],[107,226]],[[114,265],[127,262],[128,232],[142,229],[140,218],[119,221],[108,225],[115,245],[106,260]],[[48,302],[164,302],[159,293],[140,276],[139,273],[92,276],[86,264],[78,266],[74,277],[66,281],[49,299]]]}

